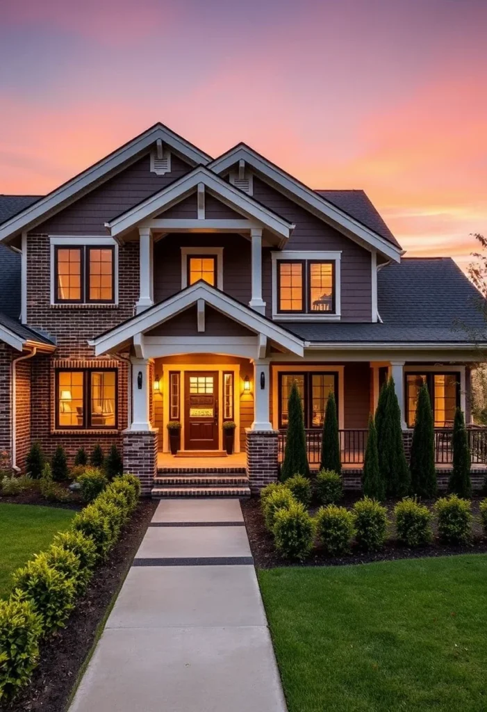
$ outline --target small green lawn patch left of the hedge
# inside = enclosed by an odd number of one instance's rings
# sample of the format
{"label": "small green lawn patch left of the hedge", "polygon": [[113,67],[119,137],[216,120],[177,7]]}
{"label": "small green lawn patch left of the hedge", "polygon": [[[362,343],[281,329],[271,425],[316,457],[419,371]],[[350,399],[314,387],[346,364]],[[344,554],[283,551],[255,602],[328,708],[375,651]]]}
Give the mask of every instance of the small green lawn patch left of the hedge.
{"label": "small green lawn patch left of the hedge", "polygon": [[11,572],[48,548],[58,531],[68,529],[70,509],[0,503],[0,598],[9,595]]}

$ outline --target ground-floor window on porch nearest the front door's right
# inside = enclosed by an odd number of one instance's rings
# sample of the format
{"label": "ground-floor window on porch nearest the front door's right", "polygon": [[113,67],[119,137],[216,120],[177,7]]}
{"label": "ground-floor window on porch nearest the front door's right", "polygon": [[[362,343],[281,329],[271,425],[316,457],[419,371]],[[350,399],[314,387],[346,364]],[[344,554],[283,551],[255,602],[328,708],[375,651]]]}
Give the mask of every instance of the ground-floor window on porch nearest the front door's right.
{"label": "ground-floor window on porch nearest the front door's right", "polygon": [[279,427],[287,428],[287,402],[293,382],[296,382],[303,406],[304,427],[321,428],[325,417],[328,394],[338,399],[336,373],[279,373]]}

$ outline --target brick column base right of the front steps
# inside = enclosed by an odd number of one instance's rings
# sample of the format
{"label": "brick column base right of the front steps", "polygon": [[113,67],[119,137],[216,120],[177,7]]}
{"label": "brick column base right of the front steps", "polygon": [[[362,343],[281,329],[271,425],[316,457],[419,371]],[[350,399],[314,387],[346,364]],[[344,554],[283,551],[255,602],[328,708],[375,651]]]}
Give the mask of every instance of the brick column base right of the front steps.
{"label": "brick column base right of the front steps", "polygon": [[279,462],[277,459],[277,430],[250,430],[247,434],[247,475],[252,494],[262,487],[277,482]]}

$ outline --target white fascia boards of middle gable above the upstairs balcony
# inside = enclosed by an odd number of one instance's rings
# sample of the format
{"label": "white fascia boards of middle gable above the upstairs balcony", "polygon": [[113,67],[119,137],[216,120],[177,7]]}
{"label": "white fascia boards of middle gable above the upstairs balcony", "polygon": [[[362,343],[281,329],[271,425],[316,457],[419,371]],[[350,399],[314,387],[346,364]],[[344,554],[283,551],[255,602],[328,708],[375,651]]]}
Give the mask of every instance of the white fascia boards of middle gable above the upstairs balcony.
{"label": "white fascia boards of middle gable above the upstairs balcony", "polygon": [[[122,235],[141,221],[151,219],[151,217],[164,211],[172,204],[185,198],[193,190],[197,190],[198,184],[204,184],[205,188],[214,193],[225,204],[242,212],[245,216],[257,219],[281,238],[289,238],[292,229],[294,229],[293,224],[258,204],[252,197],[234,188],[203,166],[196,167],[176,182],[161,189],[159,193],[149,197],[114,220],[107,222],[105,226],[112,236]],[[224,226],[224,221],[221,222],[222,226]],[[204,221],[199,220],[198,224],[204,226]]]}

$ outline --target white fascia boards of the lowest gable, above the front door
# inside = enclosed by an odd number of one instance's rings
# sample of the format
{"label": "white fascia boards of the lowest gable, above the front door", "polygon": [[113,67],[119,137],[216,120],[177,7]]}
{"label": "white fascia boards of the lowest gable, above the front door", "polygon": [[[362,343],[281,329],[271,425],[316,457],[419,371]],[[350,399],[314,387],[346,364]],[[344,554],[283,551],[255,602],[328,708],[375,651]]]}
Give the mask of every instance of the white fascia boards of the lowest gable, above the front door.
{"label": "white fascia boards of the lowest gable, above the front door", "polygon": [[[302,356],[304,353],[304,341],[299,337],[287,332],[277,324],[269,322],[266,318],[254,310],[242,305],[227,295],[218,292],[209,285],[196,283],[190,288],[179,292],[165,302],[141,312],[136,318],[127,323],[115,327],[109,333],[93,339],[88,343],[95,347],[95,355],[109,352],[117,348],[138,333],[144,333],[154,329],[160,323],[171,319],[179,312],[187,309],[198,301],[205,300],[210,306],[220,311],[223,315],[233,319],[246,328],[262,333],[277,345],[284,347],[291,353]],[[215,343],[216,345],[216,343]]]}

